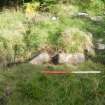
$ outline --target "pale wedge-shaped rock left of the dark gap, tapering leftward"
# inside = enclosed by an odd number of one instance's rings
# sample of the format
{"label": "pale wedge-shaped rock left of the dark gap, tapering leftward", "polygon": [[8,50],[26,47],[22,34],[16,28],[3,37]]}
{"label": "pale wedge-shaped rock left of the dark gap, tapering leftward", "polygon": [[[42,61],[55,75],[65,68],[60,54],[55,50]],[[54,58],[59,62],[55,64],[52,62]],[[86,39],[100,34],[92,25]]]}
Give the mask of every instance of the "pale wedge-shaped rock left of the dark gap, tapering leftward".
{"label": "pale wedge-shaped rock left of the dark gap, tapering leftward", "polygon": [[51,58],[48,53],[43,52],[30,61],[31,64],[44,64],[50,62]]}

